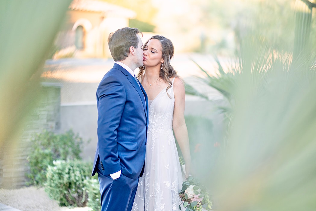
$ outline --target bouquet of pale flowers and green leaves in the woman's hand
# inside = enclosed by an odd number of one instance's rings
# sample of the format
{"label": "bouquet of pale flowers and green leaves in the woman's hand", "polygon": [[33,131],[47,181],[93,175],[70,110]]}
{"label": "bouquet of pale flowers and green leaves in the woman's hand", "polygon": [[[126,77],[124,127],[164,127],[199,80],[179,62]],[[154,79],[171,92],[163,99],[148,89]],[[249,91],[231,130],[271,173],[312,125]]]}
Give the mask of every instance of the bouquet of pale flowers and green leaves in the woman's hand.
{"label": "bouquet of pale flowers and green leaves in the woman's hand", "polygon": [[[210,196],[203,185],[197,178],[189,176],[187,181],[182,183],[182,189],[179,193],[185,211],[202,211],[203,209],[211,210],[212,202]],[[180,210],[181,205],[179,205]]]}

